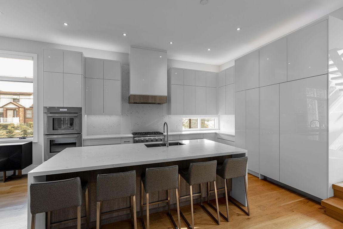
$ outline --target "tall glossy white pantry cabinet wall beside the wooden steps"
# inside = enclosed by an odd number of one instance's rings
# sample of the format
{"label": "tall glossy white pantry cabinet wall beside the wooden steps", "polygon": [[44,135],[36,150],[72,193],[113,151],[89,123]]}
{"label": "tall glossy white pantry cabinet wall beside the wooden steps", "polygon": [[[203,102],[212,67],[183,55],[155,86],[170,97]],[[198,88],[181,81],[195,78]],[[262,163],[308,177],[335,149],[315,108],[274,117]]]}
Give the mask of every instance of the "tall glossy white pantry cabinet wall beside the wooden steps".
{"label": "tall glossy white pantry cabinet wall beside the wooden steps", "polygon": [[343,181],[342,31],[329,16],[235,60],[235,141],[248,171],[318,199]]}

